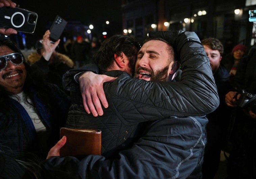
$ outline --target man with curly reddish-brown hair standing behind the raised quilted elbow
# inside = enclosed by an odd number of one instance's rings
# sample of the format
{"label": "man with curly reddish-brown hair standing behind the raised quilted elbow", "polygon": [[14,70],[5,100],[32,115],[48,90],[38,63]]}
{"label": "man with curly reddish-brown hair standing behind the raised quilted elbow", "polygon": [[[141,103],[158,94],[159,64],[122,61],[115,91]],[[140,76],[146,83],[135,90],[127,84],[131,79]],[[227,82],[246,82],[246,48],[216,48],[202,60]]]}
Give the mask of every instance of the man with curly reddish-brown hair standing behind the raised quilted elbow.
{"label": "man with curly reddish-brown hair standing behind the raised quilted elbow", "polygon": [[220,105],[215,111],[206,115],[209,123],[206,126],[207,144],[202,167],[203,178],[213,179],[219,166],[221,150],[224,148],[230,121],[230,109],[225,104],[225,94],[232,88],[229,72],[221,64],[223,45],[219,39],[206,38],[201,40],[210,65],[220,98]]}

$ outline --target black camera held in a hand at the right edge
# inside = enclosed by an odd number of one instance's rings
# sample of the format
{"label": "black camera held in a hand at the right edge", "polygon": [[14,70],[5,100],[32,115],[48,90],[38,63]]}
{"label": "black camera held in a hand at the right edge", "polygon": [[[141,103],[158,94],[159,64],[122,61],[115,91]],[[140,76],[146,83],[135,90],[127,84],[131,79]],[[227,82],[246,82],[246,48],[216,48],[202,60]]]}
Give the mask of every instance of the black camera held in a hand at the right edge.
{"label": "black camera held in a hand at the right edge", "polygon": [[242,94],[237,100],[237,106],[241,108],[250,107],[252,112],[256,114],[256,95],[242,90]]}

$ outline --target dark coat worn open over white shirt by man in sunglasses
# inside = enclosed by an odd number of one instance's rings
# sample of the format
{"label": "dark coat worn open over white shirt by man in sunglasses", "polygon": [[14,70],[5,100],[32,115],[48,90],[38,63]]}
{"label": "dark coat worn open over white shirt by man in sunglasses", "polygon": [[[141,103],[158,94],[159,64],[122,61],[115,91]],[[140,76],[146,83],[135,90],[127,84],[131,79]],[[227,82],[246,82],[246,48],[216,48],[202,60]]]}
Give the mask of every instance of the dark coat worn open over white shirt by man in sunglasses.
{"label": "dark coat worn open over white shirt by man in sunglasses", "polygon": [[37,115],[50,131],[47,146],[41,144],[30,116],[18,101],[9,98],[8,110],[0,109],[0,145],[12,157],[34,159],[35,155],[37,159],[45,159],[49,149],[59,140],[59,129],[67,119],[70,98],[56,85],[49,84],[48,89],[54,94],[49,108],[34,90],[31,99]]}

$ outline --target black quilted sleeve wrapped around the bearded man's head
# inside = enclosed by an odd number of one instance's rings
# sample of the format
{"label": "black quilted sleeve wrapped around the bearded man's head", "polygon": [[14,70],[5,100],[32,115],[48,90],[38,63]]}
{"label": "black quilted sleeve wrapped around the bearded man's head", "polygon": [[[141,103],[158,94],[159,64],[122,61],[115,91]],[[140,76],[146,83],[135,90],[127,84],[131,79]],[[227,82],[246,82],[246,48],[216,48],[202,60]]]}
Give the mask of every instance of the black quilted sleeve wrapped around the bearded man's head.
{"label": "black quilted sleeve wrapped around the bearded man's head", "polygon": [[180,82],[138,80],[124,72],[114,82],[104,83],[108,102],[128,122],[202,116],[219,106],[209,59],[196,33],[167,32],[157,36],[168,36],[167,40],[180,54]]}

